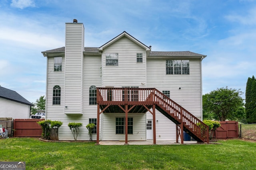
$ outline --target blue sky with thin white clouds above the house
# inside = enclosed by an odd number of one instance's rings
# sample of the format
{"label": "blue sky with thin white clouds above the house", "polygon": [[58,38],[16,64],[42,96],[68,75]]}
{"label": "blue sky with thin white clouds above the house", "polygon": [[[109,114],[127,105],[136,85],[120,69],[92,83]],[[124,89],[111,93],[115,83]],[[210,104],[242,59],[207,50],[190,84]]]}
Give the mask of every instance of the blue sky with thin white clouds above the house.
{"label": "blue sky with thin white clouds above the house", "polygon": [[256,76],[256,0],[0,0],[0,85],[30,102],[45,95],[41,51],[64,47],[73,19],[84,23],[86,47],[126,31],[152,51],[207,55],[203,94],[245,92]]}

